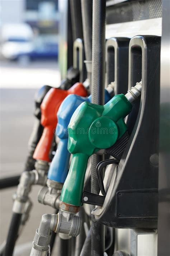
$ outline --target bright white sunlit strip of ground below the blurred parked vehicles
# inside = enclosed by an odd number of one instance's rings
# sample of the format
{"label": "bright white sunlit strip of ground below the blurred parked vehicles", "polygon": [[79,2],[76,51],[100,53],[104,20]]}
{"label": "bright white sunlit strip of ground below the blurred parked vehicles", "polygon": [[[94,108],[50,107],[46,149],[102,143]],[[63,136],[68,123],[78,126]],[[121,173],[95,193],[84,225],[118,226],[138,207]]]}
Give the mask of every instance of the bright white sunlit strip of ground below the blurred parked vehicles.
{"label": "bright white sunlit strip of ground below the blurred parked vehicles", "polygon": [[30,62],[20,66],[17,62],[0,63],[1,87],[5,88],[39,88],[42,84],[57,87],[60,72],[57,62]]}

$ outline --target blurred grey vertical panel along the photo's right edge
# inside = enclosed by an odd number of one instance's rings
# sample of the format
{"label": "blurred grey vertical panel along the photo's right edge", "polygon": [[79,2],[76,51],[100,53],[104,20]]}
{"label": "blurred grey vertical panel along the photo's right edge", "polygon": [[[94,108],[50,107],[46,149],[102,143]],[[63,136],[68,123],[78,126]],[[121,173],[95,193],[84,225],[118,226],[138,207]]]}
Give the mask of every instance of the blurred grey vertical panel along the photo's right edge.
{"label": "blurred grey vertical panel along the photo's right edge", "polygon": [[162,1],[158,256],[170,255],[170,1]]}

